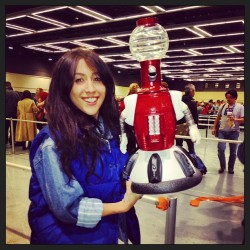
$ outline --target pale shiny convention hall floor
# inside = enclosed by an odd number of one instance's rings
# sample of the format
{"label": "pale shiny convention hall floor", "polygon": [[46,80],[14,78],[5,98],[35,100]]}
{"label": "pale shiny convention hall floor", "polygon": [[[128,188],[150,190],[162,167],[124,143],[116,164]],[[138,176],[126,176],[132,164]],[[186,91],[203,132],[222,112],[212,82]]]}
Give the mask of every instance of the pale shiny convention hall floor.
{"label": "pale shiny convention hall floor", "polygon": [[[205,129],[201,129],[205,137]],[[211,133],[208,137],[214,138]],[[241,132],[239,140],[243,140]],[[184,143],[184,147],[186,144]],[[191,189],[178,193],[153,195],[177,198],[175,244],[242,244],[244,228],[244,205],[218,201],[202,201],[198,207],[190,201],[203,197],[231,197],[244,195],[244,166],[236,160],[235,174],[225,171],[218,174],[217,142],[202,140],[196,146],[196,153],[204,161],[208,172],[201,183]],[[227,145],[226,158],[229,147]],[[29,207],[28,186],[30,179],[28,151],[21,147],[6,148],[6,244],[29,244],[30,228],[27,222]],[[26,166],[27,169],[21,169]],[[17,185],[18,183],[18,185]],[[141,199],[136,204],[139,217],[142,244],[164,244],[166,234],[166,211],[161,211],[154,204]],[[120,242],[121,243],[121,242]],[[122,244],[122,243],[121,243]]]}

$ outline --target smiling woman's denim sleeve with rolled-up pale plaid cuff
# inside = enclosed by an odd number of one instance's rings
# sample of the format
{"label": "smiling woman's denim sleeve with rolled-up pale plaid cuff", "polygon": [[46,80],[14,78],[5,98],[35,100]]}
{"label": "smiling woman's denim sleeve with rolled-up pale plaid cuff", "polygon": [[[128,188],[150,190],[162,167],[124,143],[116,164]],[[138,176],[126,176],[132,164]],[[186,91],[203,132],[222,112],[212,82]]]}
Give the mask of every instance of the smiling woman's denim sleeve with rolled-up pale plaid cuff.
{"label": "smiling woman's denim sleeve with rolled-up pale plaid cuff", "polygon": [[84,191],[79,182],[75,179],[69,181],[50,138],[44,141],[36,154],[35,159],[39,160],[36,164],[34,161],[34,169],[53,214],[64,223],[95,227],[101,219],[102,201],[83,197]]}

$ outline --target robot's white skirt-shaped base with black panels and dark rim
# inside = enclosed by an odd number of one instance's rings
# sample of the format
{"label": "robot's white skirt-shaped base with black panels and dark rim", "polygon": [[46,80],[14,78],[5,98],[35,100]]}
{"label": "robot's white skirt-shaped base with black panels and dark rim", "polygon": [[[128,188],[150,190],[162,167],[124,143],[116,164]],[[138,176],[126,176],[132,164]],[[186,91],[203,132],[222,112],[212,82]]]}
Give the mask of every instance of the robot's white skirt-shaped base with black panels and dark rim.
{"label": "robot's white skirt-shaped base with black panels and dark rim", "polygon": [[174,193],[192,188],[202,180],[185,151],[178,146],[161,151],[138,150],[124,169],[132,191],[138,194]]}

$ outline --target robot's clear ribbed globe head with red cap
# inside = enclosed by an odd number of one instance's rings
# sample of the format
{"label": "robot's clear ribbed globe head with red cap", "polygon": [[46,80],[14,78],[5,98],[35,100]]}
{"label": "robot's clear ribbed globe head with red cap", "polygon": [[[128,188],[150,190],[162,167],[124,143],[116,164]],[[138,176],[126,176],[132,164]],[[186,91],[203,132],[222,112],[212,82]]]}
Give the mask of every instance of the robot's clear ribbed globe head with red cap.
{"label": "robot's clear ribbed globe head with red cap", "polygon": [[168,34],[157,23],[156,18],[137,21],[137,27],[132,31],[129,39],[130,52],[137,61],[161,59],[166,55],[168,46]]}

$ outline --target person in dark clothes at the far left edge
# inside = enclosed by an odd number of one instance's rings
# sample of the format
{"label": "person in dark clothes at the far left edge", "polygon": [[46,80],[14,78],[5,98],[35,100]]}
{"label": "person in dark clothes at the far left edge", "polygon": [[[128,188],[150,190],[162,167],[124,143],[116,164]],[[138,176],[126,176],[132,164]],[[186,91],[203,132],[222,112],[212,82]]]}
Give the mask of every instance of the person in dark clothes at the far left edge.
{"label": "person in dark clothes at the far left edge", "polygon": [[[19,95],[15,92],[11,86],[11,82],[5,82],[5,118],[13,118],[17,119],[17,103],[20,100]],[[10,120],[5,120],[5,144],[10,143],[12,145],[11,136],[15,140],[16,134],[16,121],[13,122],[13,131],[10,126]],[[9,137],[9,129],[10,129],[10,137]],[[13,133],[12,133],[13,132]]]}

